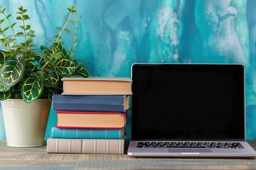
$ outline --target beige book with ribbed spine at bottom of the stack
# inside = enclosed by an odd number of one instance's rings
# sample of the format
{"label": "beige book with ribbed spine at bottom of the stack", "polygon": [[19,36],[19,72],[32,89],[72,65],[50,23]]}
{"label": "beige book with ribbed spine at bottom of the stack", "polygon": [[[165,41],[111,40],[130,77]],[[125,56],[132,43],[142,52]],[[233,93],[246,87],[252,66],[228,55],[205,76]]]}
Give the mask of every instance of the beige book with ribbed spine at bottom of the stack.
{"label": "beige book with ribbed spine at bottom of the stack", "polygon": [[47,139],[47,153],[124,154],[123,139]]}

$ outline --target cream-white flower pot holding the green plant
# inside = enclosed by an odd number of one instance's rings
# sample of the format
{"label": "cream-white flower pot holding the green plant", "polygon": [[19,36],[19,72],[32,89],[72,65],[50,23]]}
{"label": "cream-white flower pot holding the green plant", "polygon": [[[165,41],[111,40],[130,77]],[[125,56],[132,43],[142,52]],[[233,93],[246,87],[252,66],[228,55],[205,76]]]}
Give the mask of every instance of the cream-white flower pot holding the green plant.
{"label": "cream-white flower pot holding the green plant", "polygon": [[26,104],[23,99],[1,101],[7,146],[35,147],[44,144],[51,103],[37,99]]}

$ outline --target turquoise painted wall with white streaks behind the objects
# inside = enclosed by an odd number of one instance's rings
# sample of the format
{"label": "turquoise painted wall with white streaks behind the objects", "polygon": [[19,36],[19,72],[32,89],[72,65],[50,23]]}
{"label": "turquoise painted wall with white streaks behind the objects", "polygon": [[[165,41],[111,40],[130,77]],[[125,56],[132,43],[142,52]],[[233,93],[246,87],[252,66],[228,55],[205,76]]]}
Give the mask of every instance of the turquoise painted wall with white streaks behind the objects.
{"label": "turquoise painted wall with white streaks behind the objects", "polygon": [[[130,77],[135,62],[241,63],[246,67],[247,139],[256,139],[255,0],[1,0],[16,18],[28,9],[34,44],[50,46],[54,27],[76,4],[83,15],[75,58],[86,61],[91,76]],[[18,25],[18,24],[17,24]],[[74,30],[72,27],[70,29]],[[20,31],[16,27],[17,32]],[[63,35],[64,38],[64,35]],[[65,35],[65,40],[72,35]],[[71,46],[66,41],[65,47]],[[128,139],[130,113],[128,113]],[[45,138],[56,125],[51,110]],[[0,139],[5,139],[0,112]]]}

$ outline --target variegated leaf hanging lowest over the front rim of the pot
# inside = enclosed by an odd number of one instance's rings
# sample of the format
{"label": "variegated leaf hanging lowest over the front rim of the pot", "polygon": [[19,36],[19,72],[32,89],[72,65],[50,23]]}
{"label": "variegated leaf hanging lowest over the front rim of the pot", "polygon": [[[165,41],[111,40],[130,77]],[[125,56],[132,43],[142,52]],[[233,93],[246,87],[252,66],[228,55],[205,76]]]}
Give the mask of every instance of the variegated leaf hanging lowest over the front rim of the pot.
{"label": "variegated leaf hanging lowest over the front rim of the pot", "polygon": [[35,76],[30,75],[22,83],[20,91],[25,103],[34,102],[43,93],[43,83]]}

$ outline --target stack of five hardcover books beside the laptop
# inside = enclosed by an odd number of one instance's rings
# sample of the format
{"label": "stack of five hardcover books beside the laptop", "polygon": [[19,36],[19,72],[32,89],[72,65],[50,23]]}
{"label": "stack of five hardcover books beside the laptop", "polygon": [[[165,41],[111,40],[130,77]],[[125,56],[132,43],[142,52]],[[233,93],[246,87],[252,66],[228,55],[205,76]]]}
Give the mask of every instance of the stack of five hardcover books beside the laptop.
{"label": "stack of five hardcover books beside the laptop", "polygon": [[57,125],[47,139],[48,153],[124,154],[126,115],[132,79],[65,77],[54,95]]}

